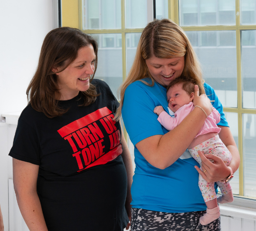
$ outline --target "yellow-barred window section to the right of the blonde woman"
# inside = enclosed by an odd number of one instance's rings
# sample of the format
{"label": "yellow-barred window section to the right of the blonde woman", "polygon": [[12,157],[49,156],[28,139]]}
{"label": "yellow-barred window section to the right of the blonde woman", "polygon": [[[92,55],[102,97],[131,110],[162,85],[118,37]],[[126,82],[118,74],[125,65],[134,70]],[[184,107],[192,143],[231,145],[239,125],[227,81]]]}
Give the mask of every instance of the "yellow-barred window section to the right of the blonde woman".
{"label": "yellow-barred window section to the right of the blonde woman", "polygon": [[205,82],[215,89],[222,102],[239,148],[241,164],[231,182],[233,193],[253,198],[256,198],[255,5],[255,1],[249,0],[179,1],[180,25],[195,48]]}

